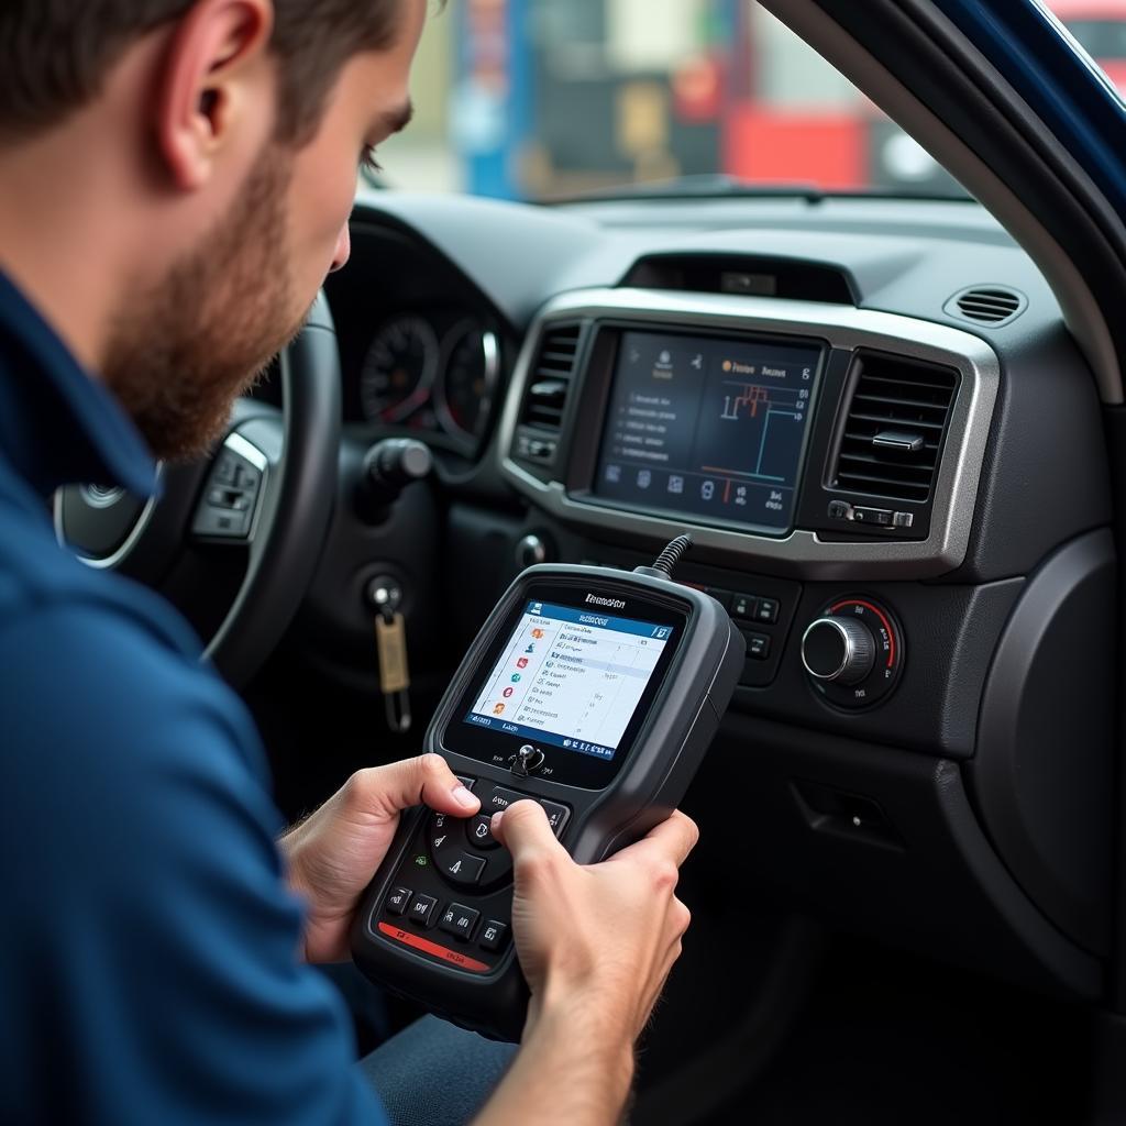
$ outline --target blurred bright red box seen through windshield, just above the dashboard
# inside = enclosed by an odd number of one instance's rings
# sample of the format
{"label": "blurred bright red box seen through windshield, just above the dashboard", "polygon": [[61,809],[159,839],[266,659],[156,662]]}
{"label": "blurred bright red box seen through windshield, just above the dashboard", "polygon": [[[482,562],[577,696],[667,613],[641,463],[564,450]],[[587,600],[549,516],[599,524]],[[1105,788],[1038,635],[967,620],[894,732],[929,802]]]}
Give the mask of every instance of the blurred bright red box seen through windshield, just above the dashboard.
{"label": "blurred bright red box seen through windshield, just above the dashboard", "polygon": [[754,184],[855,191],[868,182],[865,125],[846,114],[732,109],[724,129],[724,171]]}

